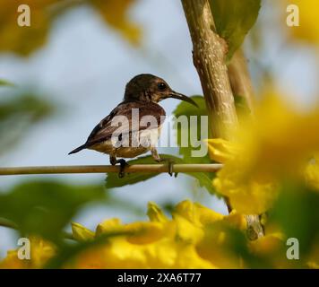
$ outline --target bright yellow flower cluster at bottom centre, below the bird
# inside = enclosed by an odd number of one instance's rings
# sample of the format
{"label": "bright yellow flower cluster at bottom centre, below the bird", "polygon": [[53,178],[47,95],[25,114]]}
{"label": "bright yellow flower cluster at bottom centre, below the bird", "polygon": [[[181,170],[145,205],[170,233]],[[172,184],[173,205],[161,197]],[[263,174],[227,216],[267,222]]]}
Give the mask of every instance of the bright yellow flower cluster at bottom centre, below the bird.
{"label": "bright yellow flower cluster at bottom centre, below the bird", "polygon": [[214,268],[200,257],[196,243],[203,238],[203,224],[221,220],[223,215],[214,213],[200,204],[189,201],[177,204],[173,220],[160,208],[149,204],[151,222],[122,224],[112,219],[99,224],[96,236],[110,232],[129,232],[111,237],[103,247],[84,251],[73,268]]}

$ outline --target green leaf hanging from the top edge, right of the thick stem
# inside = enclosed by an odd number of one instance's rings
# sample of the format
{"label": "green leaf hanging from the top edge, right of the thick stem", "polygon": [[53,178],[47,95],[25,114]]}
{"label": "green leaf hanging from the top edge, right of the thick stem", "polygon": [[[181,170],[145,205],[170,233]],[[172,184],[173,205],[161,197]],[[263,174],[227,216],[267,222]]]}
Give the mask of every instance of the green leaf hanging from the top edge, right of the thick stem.
{"label": "green leaf hanging from the top edge, right of the thick stem", "polygon": [[261,0],[210,0],[216,30],[228,43],[227,61],[231,59],[254,26]]}

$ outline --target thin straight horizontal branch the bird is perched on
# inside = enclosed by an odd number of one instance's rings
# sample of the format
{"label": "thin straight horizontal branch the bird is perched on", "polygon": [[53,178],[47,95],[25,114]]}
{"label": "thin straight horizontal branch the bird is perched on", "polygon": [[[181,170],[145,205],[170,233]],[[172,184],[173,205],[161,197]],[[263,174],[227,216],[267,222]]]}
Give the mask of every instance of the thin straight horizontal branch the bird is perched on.
{"label": "thin straight horizontal branch the bird is perched on", "polygon": [[[221,164],[173,164],[173,172],[216,172]],[[78,165],[46,167],[12,167],[0,168],[0,176],[30,174],[65,174],[65,173],[107,173],[119,172],[119,166],[112,165]],[[168,164],[134,164],[125,167],[125,172],[168,172]]]}

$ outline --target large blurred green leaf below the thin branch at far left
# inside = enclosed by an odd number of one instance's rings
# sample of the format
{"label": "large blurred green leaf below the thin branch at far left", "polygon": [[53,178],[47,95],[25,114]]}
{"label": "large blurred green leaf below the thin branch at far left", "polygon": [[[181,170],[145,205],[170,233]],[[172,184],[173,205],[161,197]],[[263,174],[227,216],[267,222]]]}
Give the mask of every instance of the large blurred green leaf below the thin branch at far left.
{"label": "large blurred green leaf below the thin branch at far left", "polygon": [[73,215],[84,205],[105,198],[101,186],[71,186],[55,181],[22,183],[0,194],[0,217],[22,234],[58,242]]}

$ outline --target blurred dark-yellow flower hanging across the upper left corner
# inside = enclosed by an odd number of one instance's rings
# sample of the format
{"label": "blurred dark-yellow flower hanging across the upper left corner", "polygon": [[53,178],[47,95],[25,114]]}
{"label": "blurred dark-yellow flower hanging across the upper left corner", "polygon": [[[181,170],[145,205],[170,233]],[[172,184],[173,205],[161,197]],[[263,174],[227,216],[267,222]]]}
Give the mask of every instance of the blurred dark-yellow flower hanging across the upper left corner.
{"label": "blurred dark-yellow flower hanging across the upper left corner", "polygon": [[[141,28],[129,20],[128,9],[135,0],[89,0],[91,5],[108,25],[118,31],[125,39],[137,45],[141,39]],[[27,4],[30,7],[30,26],[17,24],[18,7]],[[47,42],[51,25],[57,16],[68,9],[82,5],[81,1],[56,0],[2,0],[0,9],[0,51],[14,52],[29,56]]]}

